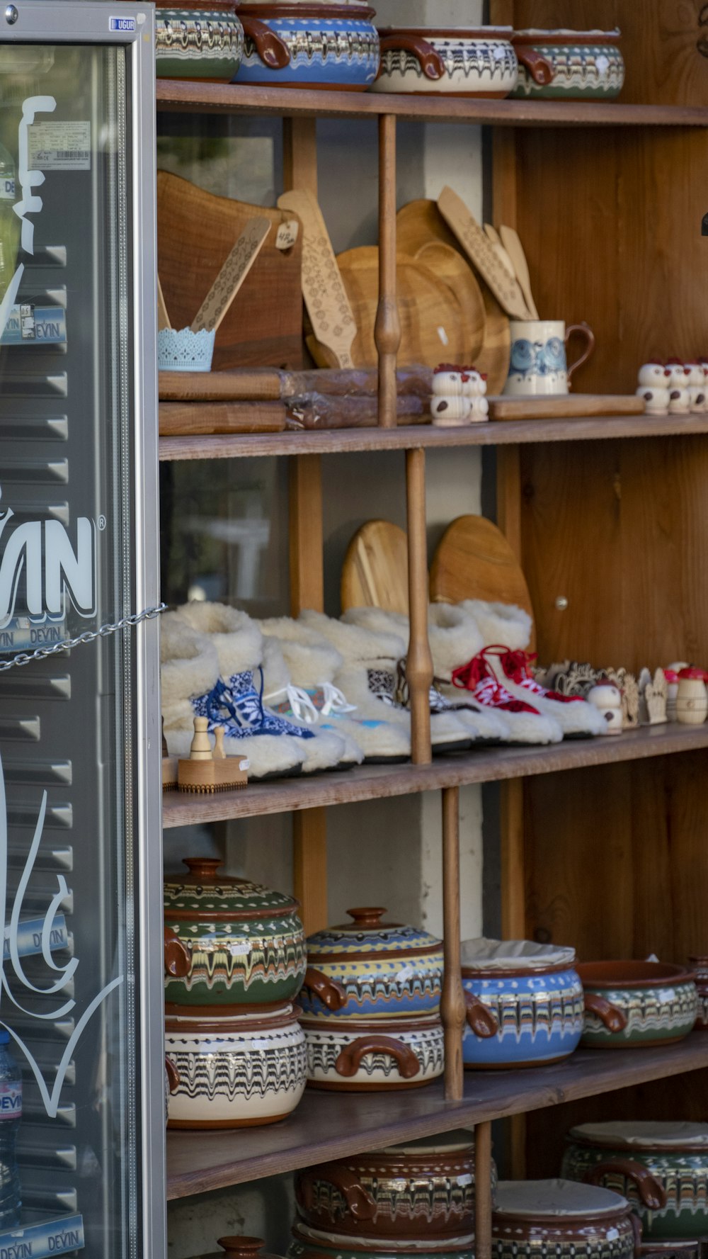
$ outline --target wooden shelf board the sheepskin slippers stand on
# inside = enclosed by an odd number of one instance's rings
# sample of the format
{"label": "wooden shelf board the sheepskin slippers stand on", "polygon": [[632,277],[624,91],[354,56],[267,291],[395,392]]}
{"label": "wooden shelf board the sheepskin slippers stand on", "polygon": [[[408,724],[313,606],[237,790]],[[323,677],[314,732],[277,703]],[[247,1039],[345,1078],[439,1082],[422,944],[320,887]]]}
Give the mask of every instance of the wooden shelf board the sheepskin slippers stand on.
{"label": "wooden shelf board the sheepskin slippers stand on", "polygon": [[550,748],[480,748],[451,757],[434,757],[429,765],[360,765],[343,772],[250,783],[245,791],[215,792],[213,796],[166,792],[162,797],[162,823],[169,828],[287,813],[467,783],[502,782],[620,760],[643,760],[702,748],[708,748],[708,723],[699,726],[645,726],[616,737],[571,739]]}

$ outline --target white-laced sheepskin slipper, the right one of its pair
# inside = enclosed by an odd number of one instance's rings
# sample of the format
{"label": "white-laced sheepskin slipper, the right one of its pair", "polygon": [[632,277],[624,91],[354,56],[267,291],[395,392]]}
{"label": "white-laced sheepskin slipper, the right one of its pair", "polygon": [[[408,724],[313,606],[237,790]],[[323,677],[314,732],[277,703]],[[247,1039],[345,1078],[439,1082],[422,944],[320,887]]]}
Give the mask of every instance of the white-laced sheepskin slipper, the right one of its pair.
{"label": "white-laced sheepskin slipper, the right one of its pair", "polygon": [[[335,686],[335,675],[343,666],[341,653],[316,630],[289,617],[259,621],[265,637],[275,638],[292,686],[287,696],[294,716],[317,721],[362,749],[367,764],[400,764],[409,759],[410,738],[391,721],[362,718],[356,704]],[[274,703],[269,699],[269,703]],[[280,704],[274,704],[283,711]],[[306,715],[308,714],[308,715]]]}

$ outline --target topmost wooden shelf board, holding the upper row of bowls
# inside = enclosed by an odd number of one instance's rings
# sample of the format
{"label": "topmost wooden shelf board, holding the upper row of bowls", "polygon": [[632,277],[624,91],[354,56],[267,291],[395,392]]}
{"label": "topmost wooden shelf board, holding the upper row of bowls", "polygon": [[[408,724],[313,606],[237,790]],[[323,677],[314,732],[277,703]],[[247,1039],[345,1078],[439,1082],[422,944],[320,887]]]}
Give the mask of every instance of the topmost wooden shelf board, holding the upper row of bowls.
{"label": "topmost wooden shelf board, holding the upper row of bowls", "polygon": [[394,113],[424,122],[477,122],[508,127],[705,127],[708,110],[604,101],[482,101],[384,92],[248,87],[235,83],[157,81],[157,110],[265,113],[278,117],[368,118]]}

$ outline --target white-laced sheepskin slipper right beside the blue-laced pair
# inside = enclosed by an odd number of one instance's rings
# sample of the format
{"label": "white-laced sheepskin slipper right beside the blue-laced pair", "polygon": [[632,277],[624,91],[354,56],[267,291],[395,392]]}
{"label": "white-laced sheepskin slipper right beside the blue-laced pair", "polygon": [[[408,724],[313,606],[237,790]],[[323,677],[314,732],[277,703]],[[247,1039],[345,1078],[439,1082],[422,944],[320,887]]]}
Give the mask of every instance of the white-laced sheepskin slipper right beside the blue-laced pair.
{"label": "white-laced sheepskin slipper right beside the blue-laced pair", "polygon": [[[294,703],[293,703],[294,701]],[[345,730],[321,725],[317,711],[298,718],[298,696],[293,692],[290,674],[277,638],[265,635],[263,638],[263,703],[267,711],[285,716],[290,725],[303,731],[307,738],[306,774],[321,769],[346,769],[360,765],[363,752],[355,739]],[[307,710],[306,710],[307,713]]]}

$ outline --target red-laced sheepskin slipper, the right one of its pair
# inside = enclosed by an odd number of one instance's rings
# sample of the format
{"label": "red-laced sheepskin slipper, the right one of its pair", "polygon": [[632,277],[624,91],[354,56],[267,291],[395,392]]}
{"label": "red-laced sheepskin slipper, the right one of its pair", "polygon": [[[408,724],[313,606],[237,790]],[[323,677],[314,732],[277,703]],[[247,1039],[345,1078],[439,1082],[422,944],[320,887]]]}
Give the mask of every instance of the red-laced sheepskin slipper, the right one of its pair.
{"label": "red-laced sheepskin slipper, the right one of its pair", "polygon": [[606,721],[594,704],[584,699],[561,699],[533,677],[526,651],[531,641],[531,617],[511,603],[467,599],[463,614],[474,618],[484,640],[484,656],[499,681],[517,699],[526,699],[539,713],[552,716],[566,739],[604,734]]}

